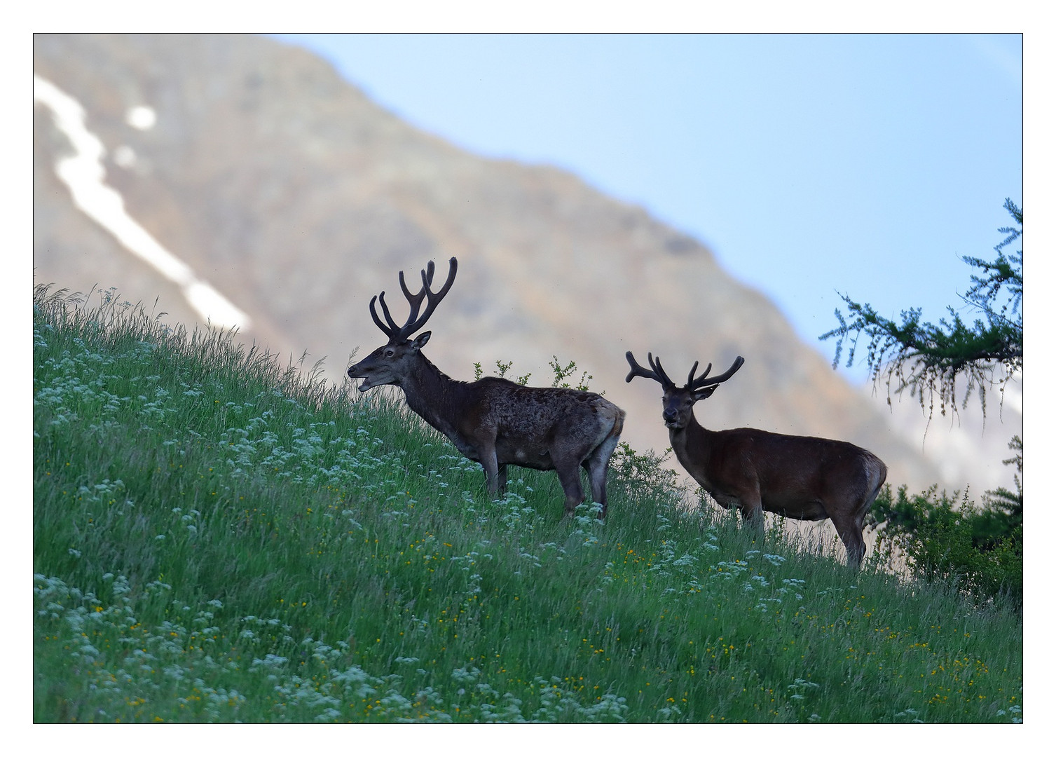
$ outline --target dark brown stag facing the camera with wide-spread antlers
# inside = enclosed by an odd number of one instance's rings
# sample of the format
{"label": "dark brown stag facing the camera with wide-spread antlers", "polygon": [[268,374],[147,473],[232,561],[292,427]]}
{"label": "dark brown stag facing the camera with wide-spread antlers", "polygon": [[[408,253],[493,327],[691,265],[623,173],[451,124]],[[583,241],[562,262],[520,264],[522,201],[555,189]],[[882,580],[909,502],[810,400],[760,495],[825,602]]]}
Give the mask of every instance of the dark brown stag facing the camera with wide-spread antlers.
{"label": "dark brown stag facing the camera with wide-spread antlers", "polygon": [[847,548],[847,564],[859,567],[865,556],[862,526],[887,477],[879,457],[847,441],[788,436],[757,429],[709,431],[697,422],[693,405],[705,399],[744,363],[738,356],[730,370],[709,376],[711,363],[679,389],[667,378],[659,358],[648,356],[650,371],[627,353],[627,381],[642,376],[663,386],[663,420],[671,447],[682,467],[725,509],[736,507],[744,521],[762,525],[762,512],[797,521],[829,518]]}

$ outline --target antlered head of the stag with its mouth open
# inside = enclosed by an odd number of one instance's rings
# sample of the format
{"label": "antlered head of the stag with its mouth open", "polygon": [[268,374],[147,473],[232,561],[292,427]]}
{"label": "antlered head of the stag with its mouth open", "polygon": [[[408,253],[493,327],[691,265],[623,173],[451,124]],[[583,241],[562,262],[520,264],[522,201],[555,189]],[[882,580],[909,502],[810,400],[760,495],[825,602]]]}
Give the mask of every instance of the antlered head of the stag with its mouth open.
{"label": "antlered head of the stag with its mouth open", "polygon": [[[430,288],[433,284],[433,273],[435,272],[435,266],[432,261],[429,262],[426,270],[421,271],[421,289],[416,295],[412,295],[410,289],[407,288],[407,282],[403,281],[403,271],[399,272],[400,289],[403,290],[403,297],[407,298],[408,303],[411,305],[411,315],[408,316],[407,322],[402,326],[397,325],[389,313],[384,291],[371,300],[371,317],[378,328],[389,337],[389,341],[348,368],[350,378],[363,379],[363,382],[359,384],[360,392],[365,392],[372,386],[380,386],[382,384],[399,385],[402,378],[408,375],[413,361],[418,358],[421,348],[426,346],[432,332],[422,332],[414,339],[411,339],[411,335],[426,325],[430,316],[433,315],[433,310],[440,304],[440,300],[448,294],[448,290],[451,289],[451,285],[455,281],[458,261],[452,258],[449,265],[448,280],[440,287],[440,290],[435,292]],[[385,317],[384,322],[378,318],[378,311],[374,307],[375,302],[381,305],[381,313]],[[418,311],[421,309],[422,302],[426,303],[426,311],[419,316]]]}

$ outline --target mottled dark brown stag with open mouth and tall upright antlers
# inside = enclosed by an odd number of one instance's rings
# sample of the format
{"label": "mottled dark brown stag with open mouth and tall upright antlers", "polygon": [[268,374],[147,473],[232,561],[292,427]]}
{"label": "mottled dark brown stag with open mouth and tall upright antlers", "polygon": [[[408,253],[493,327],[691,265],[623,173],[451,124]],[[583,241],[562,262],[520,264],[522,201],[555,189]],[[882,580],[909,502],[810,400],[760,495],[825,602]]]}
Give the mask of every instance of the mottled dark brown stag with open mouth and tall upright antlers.
{"label": "mottled dark brown stag with open mouth and tall upright antlers", "polygon": [[[348,368],[350,378],[362,378],[360,392],[395,384],[407,403],[430,425],[447,436],[458,451],[484,466],[488,492],[506,491],[506,466],[555,470],[565,490],[565,513],[584,501],[580,467],[587,471],[590,494],[608,510],[605,478],[608,460],[623,431],[624,412],[595,394],[572,389],[522,386],[497,376],[456,381],[421,354],[431,332],[411,336],[426,325],[454,283],[458,262],[452,258],[448,280],[432,291],[432,261],[421,271],[421,290],[412,295],[399,273],[399,285],[411,305],[402,326],[385,305],[385,294],[371,300],[371,316],[389,341]],[[384,322],[374,303],[381,305]],[[420,316],[421,303],[426,310]]]}

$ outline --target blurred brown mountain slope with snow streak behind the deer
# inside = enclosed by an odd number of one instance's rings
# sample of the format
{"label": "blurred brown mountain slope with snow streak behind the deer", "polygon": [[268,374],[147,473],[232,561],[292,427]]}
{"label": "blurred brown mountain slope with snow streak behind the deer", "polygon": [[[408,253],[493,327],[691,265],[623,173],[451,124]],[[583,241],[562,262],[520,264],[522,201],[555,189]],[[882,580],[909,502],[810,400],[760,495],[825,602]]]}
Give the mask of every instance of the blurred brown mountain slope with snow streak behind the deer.
{"label": "blurred brown mountain slope with snow streak behind the deer", "polygon": [[[128,215],[246,314],[239,338],[295,360],[306,352],[307,365],[325,358],[334,381],[355,351],[384,341],[371,298],[385,290],[402,321],[397,272],[415,287],[428,261],[442,278],[454,256],[458,278],[426,351],[454,378],[502,360],[548,385],[554,356],[574,360],[577,379],[586,371],[627,411],[623,439],[662,451],[660,389],[625,383],[624,353],[660,356],[676,380],[695,360],[721,372],[742,355],[698,405],[704,425],[846,439],[914,490],[1011,486],[1000,460],[1022,433],[1020,396],[991,401],[985,433],[978,412],[937,413],[925,438],[914,399],[889,408],[883,389],[850,385],[697,240],[566,171],[415,129],[302,49],[241,35],[35,35],[34,72],[84,109],[102,181]],[[56,166],[77,149],[36,102],[36,283],[114,287],[148,309],[156,300],[169,321],[204,322],[185,287],[75,206]]]}

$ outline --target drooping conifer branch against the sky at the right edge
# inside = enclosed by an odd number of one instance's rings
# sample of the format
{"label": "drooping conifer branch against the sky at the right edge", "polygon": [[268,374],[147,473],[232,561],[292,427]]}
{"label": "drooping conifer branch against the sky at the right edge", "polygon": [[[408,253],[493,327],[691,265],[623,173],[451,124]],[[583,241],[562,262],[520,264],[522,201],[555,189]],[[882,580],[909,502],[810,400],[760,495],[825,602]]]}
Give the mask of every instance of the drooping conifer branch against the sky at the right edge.
{"label": "drooping conifer branch against the sky at the right edge", "polygon": [[966,383],[961,406],[967,405],[972,392],[978,389],[985,414],[984,389],[997,383],[1003,390],[1023,367],[1023,252],[1017,250],[1005,257],[1003,251],[1022,236],[1023,211],[1008,198],[1004,208],[1018,228],[999,229],[1006,235],[994,247],[997,258],[993,261],[962,258],[979,273],[972,276],[972,287],[961,299],[982,318],[969,325],[949,306],[949,318],[934,325],[922,322],[921,308],[909,308],[902,311],[902,322],[897,323],[878,314],[868,303],[854,302],[845,294],[841,297],[849,319],[837,308],[835,317],[840,325],[821,337],[836,338],[833,367],[840,362],[845,343],[849,344],[847,365],[851,366],[859,340],[865,336],[866,365],[873,381],[886,377],[889,402],[893,380],[895,392],[909,389],[918,395],[922,408],[926,400],[929,413],[934,412],[936,394],[943,414],[947,408],[956,412],[955,384],[963,376]]}

